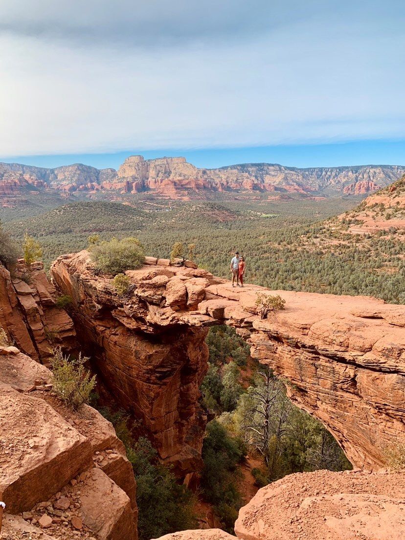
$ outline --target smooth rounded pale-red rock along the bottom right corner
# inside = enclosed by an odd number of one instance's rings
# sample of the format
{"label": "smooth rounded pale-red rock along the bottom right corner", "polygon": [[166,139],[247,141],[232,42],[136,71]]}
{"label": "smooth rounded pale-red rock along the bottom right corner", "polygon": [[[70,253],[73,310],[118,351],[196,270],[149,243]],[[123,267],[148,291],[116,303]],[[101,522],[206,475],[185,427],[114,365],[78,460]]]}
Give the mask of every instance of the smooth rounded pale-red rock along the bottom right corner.
{"label": "smooth rounded pale-red rock along the bottom right corner", "polygon": [[405,536],[405,473],[316,471],[260,489],[239,511],[235,535],[181,531],[159,540],[399,540]]}

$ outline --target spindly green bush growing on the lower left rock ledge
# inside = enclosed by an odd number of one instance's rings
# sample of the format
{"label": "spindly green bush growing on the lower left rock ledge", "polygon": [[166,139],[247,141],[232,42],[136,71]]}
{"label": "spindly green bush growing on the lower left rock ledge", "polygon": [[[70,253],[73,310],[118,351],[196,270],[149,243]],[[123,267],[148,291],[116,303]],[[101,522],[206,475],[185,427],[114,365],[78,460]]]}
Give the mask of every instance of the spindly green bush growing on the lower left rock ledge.
{"label": "spindly green bush growing on the lower left rock ledge", "polygon": [[96,375],[91,377],[84,367],[87,360],[89,359],[82,356],[82,353],[79,353],[76,360],[70,360],[63,355],[60,347],[53,349],[53,391],[72,409],[89,403],[96,386]]}

